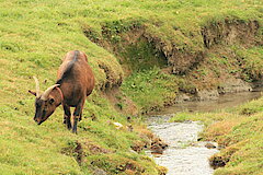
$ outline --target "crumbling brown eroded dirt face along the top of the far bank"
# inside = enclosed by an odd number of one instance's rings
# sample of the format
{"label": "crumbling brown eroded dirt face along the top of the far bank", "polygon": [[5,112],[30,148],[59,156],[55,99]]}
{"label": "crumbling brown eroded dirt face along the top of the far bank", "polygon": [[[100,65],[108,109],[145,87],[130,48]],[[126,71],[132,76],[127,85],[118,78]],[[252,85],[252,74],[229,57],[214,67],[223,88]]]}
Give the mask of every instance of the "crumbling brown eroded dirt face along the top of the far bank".
{"label": "crumbling brown eroded dirt face along the top of the far bank", "polygon": [[[155,34],[149,25],[147,21],[138,22],[135,20],[127,22],[127,24],[125,21],[114,21],[103,25],[101,33],[96,33],[89,26],[83,26],[82,30],[89,39],[115,54],[121,59],[122,65],[127,65],[129,63],[127,60],[134,59],[128,56],[136,57],[135,55],[123,54],[129,51],[136,54],[136,49],[139,49],[141,43],[149,45],[155,51],[151,59],[160,57],[163,66],[168,67],[167,70],[174,74],[186,74],[193,71],[203,63],[208,54],[219,54],[216,50],[217,47],[242,45],[249,48],[262,45],[259,21],[225,19],[225,21],[199,26],[191,34],[174,28],[175,32],[172,31],[171,33],[174,36],[182,36],[181,39],[163,38],[161,35]],[[129,50],[132,47],[134,50]],[[226,51],[222,50],[222,52]],[[144,59],[144,56],[140,56],[136,61],[137,63],[149,61]],[[134,70],[135,68],[129,67],[129,69]],[[262,73],[260,78],[262,78]]]}

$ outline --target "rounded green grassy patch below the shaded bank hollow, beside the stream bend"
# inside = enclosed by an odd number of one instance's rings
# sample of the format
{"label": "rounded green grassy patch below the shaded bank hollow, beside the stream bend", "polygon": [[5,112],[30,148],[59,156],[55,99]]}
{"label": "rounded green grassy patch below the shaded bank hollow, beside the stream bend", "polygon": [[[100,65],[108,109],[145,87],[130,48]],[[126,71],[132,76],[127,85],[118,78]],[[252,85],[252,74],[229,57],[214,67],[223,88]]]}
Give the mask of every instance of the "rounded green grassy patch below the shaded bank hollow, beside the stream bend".
{"label": "rounded green grassy patch below the shaded bank hollow, beside the stream bend", "polygon": [[122,90],[138,105],[141,113],[148,113],[161,109],[165,103],[174,101],[178,82],[176,77],[153,68],[128,77]]}

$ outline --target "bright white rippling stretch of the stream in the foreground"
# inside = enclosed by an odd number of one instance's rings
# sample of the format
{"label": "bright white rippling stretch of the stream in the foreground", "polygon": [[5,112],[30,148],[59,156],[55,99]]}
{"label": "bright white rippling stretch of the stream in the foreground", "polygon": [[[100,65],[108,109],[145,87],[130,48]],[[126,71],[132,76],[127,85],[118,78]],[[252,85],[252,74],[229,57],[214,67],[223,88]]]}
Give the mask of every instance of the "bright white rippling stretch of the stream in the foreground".
{"label": "bright white rippling stretch of the stream in the foreground", "polygon": [[168,175],[213,174],[208,158],[218,150],[197,142],[197,135],[203,130],[199,122],[152,124],[149,128],[169,144],[163,154],[152,155],[157,164],[169,170]]}

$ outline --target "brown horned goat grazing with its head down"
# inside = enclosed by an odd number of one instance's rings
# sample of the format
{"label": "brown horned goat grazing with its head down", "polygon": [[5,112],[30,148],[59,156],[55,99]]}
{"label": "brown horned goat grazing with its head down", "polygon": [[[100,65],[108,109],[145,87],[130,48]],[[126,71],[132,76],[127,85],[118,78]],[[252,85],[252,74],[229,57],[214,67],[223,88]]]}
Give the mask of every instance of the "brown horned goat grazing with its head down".
{"label": "brown horned goat grazing with its head down", "polygon": [[[56,84],[42,94],[39,93],[39,82],[35,77],[34,79],[36,92],[28,91],[36,96],[34,120],[41,125],[62,104],[64,124],[69,130],[72,128],[72,132],[77,133],[77,124],[78,120],[81,120],[85,97],[94,89],[94,75],[88,65],[85,54],[79,50],[69,51],[58,69]],[[75,107],[73,127],[70,119],[70,107]]]}

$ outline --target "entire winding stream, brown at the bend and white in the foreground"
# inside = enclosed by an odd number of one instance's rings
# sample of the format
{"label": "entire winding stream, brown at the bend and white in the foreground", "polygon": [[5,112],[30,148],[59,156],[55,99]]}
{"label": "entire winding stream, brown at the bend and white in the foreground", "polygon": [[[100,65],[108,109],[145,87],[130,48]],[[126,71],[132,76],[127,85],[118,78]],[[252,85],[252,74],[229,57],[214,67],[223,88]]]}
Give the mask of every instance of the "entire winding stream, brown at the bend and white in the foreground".
{"label": "entire winding stream, brown at the bend and white in the foreground", "polygon": [[169,147],[161,154],[150,151],[147,154],[153,158],[157,164],[167,167],[168,175],[211,175],[214,170],[209,166],[208,159],[219,150],[217,148],[208,149],[207,147],[217,147],[217,143],[197,141],[198,133],[202,132],[204,127],[202,122],[168,122],[169,118],[182,110],[213,112],[233,107],[260,96],[261,91],[226,94],[217,101],[185,102],[151,115],[147,121],[148,128]]}

